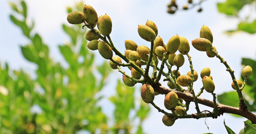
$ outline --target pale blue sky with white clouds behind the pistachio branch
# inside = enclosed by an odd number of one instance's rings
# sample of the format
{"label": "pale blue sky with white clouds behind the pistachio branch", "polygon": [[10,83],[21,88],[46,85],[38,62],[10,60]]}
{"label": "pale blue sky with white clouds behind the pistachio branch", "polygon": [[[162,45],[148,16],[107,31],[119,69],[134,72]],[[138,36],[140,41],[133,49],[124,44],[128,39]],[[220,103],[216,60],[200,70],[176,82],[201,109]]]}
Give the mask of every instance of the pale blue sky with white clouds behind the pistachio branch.
{"label": "pale blue sky with white clouds behind the pistachio branch", "polygon": [[[222,0],[223,1],[223,0]],[[15,2],[15,1],[14,1]],[[66,18],[66,7],[73,6],[75,1],[69,0],[29,0],[26,1],[28,6],[28,18],[35,20],[35,31],[42,36],[43,41],[50,48],[50,56],[54,57],[54,61],[61,62],[65,65],[65,60],[61,56],[58,45],[68,41],[68,36],[62,30],[61,24],[68,24]],[[193,67],[195,71],[200,72],[203,68],[209,67],[211,75],[215,83],[216,94],[221,94],[227,91],[233,91],[231,88],[231,77],[225,66],[220,63],[217,58],[207,57],[205,52],[200,52],[194,49],[191,41],[199,38],[199,31],[203,25],[208,26],[213,33],[213,46],[216,47],[219,54],[227,61],[231,69],[235,71],[235,76],[239,79],[242,66],[241,58],[249,57],[255,59],[256,57],[256,42],[255,35],[247,33],[237,33],[232,36],[224,34],[226,30],[235,29],[239,22],[235,18],[227,18],[225,15],[218,13],[216,3],[218,1],[208,0],[202,4],[203,11],[197,13],[197,8],[188,11],[179,11],[174,15],[167,13],[167,5],[170,0],[131,0],[131,1],[109,1],[109,0],[94,0],[84,1],[85,4],[91,5],[98,13],[98,16],[107,13],[112,20],[113,27],[110,37],[115,47],[124,52],[124,40],[133,40],[138,45],[150,46],[150,43],[140,38],[137,32],[138,25],[145,25],[147,20],[152,20],[158,28],[158,35],[166,44],[168,40],[178,34],[185,37],[190,43],[190,56],[192,57]],[[177,0],[181,6],[186,3],[186,0]],[[1,63],[8,62],[10,69],[24,69],[31,73],[37,68],[22,56],[20,46],[28,43],[28,40],[22,35],[19,28],[14,26],[10,19],[11,13],[8,1],[0,1],[0,61]],[[247,9],[243,9],[241,15],[246,14]],[[104,59],[95,51],[97,63],[101,63]],[[178,52],[176,52],[178,54]],[[187,59],[185,57],[185,59]],[[125,70],[128,71],[128,70]],[[189,71],[189,62],[180,68],[181,74],[186,74]],[[114,79],[121,79],[122,75],[116,70],[112,76]],[[161,83],[167,86],[167,82]],[[198,80],[194,83],[195,92],[198,92],[202,87],[202,82]],[[136,85],[137,90],[141,85]],[[108,87],[102,91],[102,94],[107,96],[113,95],[115,92],[108,92],[107,88],[115,88],[115,82],[110,82]],[[140,96],[139,92],[137,96]],[[212,100],[212,95],[204,92],[201,97]],[[163,105],[163,95],[155,97],[154,102],[161,108]],[[101,102],[103,110],[110,115],[113,111],[113,105],[109,102]],[[109,108],[110,107],[110,108]],[[191,103],[188,113],[196,113]],[[201,109],[212,110],[206,106],[199,106]],[[163,114],[158,113],[156,109],[151,108],[149,118],[144,122],[144,131],[148,134],[156,133],[176,133],[185,132],[198,134],[207,133],[209,130],[205,125],[204,119],[179,119],[172,127],[163,125],[161,119]],[[223,125],[225,119],[226,124],[236,133],[243,128],[245,118],[234,118],[229,114],[224,114],[218,119],[207,119],[206,124],[209,126],[211,133],[226,133]],[[182,129],[181,129],[182,127]]]}

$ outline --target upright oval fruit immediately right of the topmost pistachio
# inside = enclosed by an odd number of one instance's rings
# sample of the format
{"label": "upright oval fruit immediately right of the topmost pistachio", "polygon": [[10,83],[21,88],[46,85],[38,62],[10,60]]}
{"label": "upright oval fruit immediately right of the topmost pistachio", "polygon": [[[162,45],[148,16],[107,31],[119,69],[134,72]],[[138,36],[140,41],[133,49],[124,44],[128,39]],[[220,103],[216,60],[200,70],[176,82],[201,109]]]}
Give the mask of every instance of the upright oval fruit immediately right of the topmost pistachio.
{"label": "upright oval fruit immediately right of the topmost pistachio", "polygon": [[112,31],[112,21],[107,14],[101,17],[101,21],[99,23],[99,30],[104,36],[110,35]]}

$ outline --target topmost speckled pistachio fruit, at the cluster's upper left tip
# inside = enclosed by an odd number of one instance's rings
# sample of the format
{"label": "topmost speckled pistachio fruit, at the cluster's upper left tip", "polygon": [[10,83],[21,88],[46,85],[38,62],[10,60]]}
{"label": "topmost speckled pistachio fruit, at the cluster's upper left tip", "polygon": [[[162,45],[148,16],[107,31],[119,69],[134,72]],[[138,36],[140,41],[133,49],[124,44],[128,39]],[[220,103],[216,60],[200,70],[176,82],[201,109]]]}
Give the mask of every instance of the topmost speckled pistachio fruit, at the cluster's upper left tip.
{"label": "topmost speckled pistachio fruit, at the cluster's upper left tip", "polygon": [[84,17],[85,17],[85,21],[88,24],[94,25],[94,24],[97,23],[98,15],[97,15],[97,12],[93,9],[92,6],[84,5],[83,14],[84,14]]}

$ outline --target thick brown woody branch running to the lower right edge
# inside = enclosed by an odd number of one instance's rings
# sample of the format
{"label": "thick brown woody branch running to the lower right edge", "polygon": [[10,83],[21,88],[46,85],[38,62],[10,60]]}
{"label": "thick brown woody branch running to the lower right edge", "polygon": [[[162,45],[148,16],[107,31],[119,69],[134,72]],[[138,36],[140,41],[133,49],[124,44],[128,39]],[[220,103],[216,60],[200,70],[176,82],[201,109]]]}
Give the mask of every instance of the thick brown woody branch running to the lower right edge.
{"label": "thick brown woody branch running to the lower right edge", "polygon": [[[160,92],[160,93],[164,93],[164,94],[168,94],[170,91],[174,91],[178,95],[179,98],[182,98],[185,101],[193,101],[193,99],[194,99],[193,95],[191,93],[183,93],[183,92],[175,91],[172,89],[168,89],[163,86],[154,87],[154,90],[156,92]],[[206,105],[206,106],[209,106],[212,108],[214,107],[213,101],[210,101],[208,99],[197,97],[197,102],[199,104],[203,104],[203,105]],[[217,109],[221,111],[222,115],[223,115],[223,113],[229,113],[229,114],[243,116],[243,117],[249,119],[252,122],[252,124],[256,124],[256,115],[254,115],[248,109],[232,107],[232,106],[223,105],[220,103],[216,103],[216,104],[217,104]]]}

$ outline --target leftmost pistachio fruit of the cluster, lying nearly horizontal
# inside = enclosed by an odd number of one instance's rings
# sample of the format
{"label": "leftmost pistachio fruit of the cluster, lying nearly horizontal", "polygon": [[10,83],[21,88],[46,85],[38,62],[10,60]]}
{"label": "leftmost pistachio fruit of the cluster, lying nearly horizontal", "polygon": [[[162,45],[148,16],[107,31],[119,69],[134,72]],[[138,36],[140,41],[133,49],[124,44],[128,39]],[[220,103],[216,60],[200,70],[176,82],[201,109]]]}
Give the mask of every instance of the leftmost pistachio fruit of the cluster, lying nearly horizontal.
{"label": "leftmost pistachio fruit of the cluster, lying nearly horizontal", "polygon": [[70,24],[81,24],[83,23],[83,20],[85,20],[85,17],[83,15],[83,12],[73,11],[68,14],[67,20]]}

